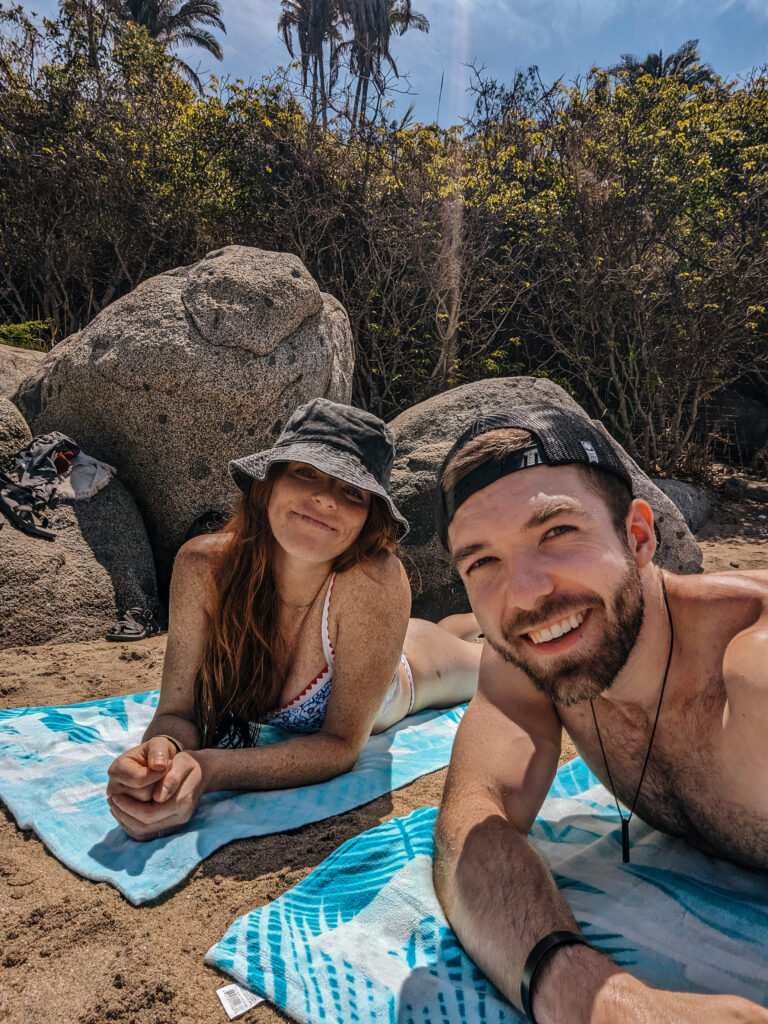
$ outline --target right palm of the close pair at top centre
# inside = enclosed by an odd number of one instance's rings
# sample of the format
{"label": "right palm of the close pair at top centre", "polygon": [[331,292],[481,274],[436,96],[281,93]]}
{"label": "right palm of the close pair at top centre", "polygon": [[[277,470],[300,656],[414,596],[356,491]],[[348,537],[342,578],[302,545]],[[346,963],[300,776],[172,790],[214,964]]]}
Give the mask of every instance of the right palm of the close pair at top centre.
{"label": "right palm of the close pair at top centre", "polygon": [[374,83],[379,93],[386,88],[385,62],[395,77],[399,77],[389,49],[392,32],[398,36],[409,29],[429,32],[429,22],[424,14],[413,9],[411,0],[341,0],[341,3],[342,16],[352,30],[348,47],[350,69],[357,78],[352,108],[354,127],[366,116],[370,83]]}

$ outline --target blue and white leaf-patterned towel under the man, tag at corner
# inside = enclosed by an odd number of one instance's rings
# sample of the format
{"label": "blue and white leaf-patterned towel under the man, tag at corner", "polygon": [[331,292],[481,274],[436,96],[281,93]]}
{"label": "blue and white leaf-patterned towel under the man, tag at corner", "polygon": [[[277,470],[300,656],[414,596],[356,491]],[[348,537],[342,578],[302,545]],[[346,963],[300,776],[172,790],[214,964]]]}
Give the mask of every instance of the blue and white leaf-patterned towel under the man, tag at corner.
{"label": "blue and white leaf-patterned towel under the man, tag at corner", "polygon": [[[239,919],[208,963],[305,1024],[512,1024],[432,888],[435,808],[349,840]],[[590,942],[649,984],[768,1006],[768,879],[633,821],[622,863],[610,795],[560,769],[531,842]]]}

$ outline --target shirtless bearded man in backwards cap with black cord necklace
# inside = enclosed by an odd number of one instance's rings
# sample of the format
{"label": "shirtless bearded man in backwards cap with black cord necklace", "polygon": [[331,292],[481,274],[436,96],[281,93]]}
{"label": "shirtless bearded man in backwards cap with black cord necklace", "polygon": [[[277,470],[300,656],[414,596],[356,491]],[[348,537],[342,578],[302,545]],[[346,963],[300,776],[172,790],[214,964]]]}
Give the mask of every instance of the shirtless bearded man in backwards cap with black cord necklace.
{"label": "shirtless bearded man in backwards cap with black cord necklace", "polygon": [[437,505],[486,639],[436,829],[435,889],[467,952],[539,1024],[766,1024],[745,999],[651,989],[584,943],[526,836],[564,726],[644,821],[768,870],[768,572],[663,572],[612,446],[554,407],[465,432]]}

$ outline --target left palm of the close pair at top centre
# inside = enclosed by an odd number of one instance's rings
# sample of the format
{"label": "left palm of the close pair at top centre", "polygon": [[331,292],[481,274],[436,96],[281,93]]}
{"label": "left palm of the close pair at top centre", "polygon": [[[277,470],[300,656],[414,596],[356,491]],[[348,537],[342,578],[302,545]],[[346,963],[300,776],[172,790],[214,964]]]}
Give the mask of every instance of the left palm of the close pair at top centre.
{"label": "left palm of the close pair at top centre", "polygon": [[[312,124],[317,119],[318,106],[323,113],[323,123],[327,124],[328,100],[339,73],[339,49],[342,42],[339,0],[281,0],[281,6],[283,11],[278,22],[278,31],[282,33],[292,59],[296,58],[293,43],[294,34],[296,35],[304,92],[311,71]],[[331,44],[328,84],[324,52],[326,43]]]}

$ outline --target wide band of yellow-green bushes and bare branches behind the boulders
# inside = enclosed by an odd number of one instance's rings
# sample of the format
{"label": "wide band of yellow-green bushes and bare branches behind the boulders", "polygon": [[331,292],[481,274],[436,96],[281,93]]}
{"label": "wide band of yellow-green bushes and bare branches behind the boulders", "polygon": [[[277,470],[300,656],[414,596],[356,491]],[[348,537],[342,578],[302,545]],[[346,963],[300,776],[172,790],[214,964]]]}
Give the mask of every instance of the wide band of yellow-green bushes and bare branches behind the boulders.
{"label": "wide band of yellow-green bushes and bare branches behind the boulders", "polygon": [[63,337],[211,249],[287,250],[349,312],[357,402],[547,375],[658,468],[700,445],[714,391],[765,373],[759,75],[531,72],[477,80],[461,128],[322,127],[279,78],[197,93],[103,17],[94,49],[74,3],[42,30],[0,12],[0,321]]}

